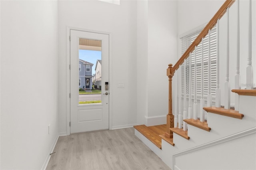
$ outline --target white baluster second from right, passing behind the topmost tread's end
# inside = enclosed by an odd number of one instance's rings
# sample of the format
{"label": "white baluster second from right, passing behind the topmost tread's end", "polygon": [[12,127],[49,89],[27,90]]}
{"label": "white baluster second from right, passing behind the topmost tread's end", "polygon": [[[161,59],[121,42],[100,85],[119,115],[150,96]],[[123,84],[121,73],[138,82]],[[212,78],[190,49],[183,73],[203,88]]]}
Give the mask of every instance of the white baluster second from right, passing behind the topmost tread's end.
{"label": "white baluster second from right, passing behind the topmost tread's end", "polygon": [[[236,44],[236,75],[235,75],[235,89],[241,89],[240,84],[240,11],[239,0],[237,0],[237,44]],[[235,95],[235,110],[239,111],[239,95]]]}

